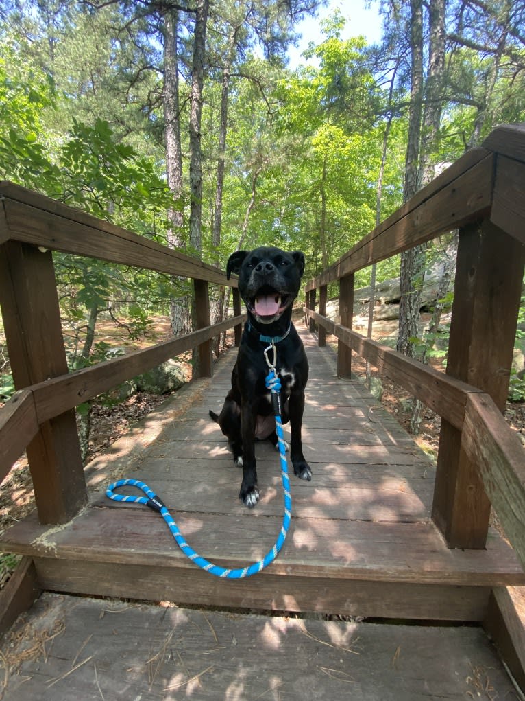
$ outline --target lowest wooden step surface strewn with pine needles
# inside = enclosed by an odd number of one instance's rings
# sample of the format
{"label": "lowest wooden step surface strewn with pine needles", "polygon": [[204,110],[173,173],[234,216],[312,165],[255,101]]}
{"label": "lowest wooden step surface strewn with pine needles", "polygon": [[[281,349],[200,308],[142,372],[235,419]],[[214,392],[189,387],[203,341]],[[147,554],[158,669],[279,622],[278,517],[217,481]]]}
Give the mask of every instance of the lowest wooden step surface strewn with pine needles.
{"label": "lowest wooden step surface strewn with pine needles", "polygon": [[12,665],[3,701],[518,698],[477,627],[268,618],[44,594],[3,652],[4,667]]}

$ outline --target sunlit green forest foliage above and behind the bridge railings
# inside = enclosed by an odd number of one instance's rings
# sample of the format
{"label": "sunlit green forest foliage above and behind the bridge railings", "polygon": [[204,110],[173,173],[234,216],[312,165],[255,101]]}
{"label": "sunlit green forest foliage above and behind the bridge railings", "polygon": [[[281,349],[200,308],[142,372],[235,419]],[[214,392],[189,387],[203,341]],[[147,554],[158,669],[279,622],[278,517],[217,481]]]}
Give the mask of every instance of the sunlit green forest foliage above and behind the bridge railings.
{"label": "sunlit green forest foliage above and behind the bridge railings", "polygon": [[[0,177],[221,267],[238,247],[269,244],[303,250],[305,277],[316,275],[400,206],[411,135],[417,187],[498,123],[525,120],[525,0],[381,0],[376,45],[344,38],[349,4],[290,67],[297,24],[320,6],[3,1]],[[55,261],[77,365],[102,310],[125,301],[139,333],[149,313],[188,296],[181,280]],[[398,259],[377,271],[398,273]]]}

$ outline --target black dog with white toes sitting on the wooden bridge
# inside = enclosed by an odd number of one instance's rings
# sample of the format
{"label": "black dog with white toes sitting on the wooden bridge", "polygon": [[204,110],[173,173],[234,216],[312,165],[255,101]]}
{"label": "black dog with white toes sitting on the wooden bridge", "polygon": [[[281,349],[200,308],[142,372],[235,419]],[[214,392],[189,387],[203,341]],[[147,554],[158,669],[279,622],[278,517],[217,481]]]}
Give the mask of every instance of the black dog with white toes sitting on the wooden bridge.
{"label": "black dog with white toes sitting on the wooden bridge", "polygon": [[[226,266],[228,279],[231,273],[239,273],[239,294],[246,304],[248,321],[232,372],[232,388],[221,415],[217,416],[214,411],[209,413],[228,437],[234,462],[242,465],[239,498],[250,508],[259,501],[254,440],[269,438],[277,443],[272,401],[265,386],[269,368],[264,351],[272,345],[272,340],[276,372],[281,379],[281,419],[282,423],[290,421],[293,471],[301,479],[311,479],[301,442],[308,361],[291,322],[292,304],[299,292],[303,271],[304,254],[286,253],[274,247],[237,251],[232,253]],[[275,362],[272,350],[268,355]]]}

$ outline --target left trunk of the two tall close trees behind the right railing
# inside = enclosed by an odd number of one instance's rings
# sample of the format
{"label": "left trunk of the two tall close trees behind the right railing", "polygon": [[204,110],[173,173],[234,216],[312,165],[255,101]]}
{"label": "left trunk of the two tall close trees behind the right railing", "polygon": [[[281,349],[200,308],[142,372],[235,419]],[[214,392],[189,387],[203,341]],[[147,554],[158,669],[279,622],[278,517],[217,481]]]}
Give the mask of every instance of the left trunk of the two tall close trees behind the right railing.
{"label": "left trunk of the two tall close trees behind the right railing", "polygon": [[[420,187],[419,154],[421,113],[423,104],[423,8],[421,0],[410,0],[411,23],[411,88],[407,156],[405,161],[404,200],[409,200]],[[425,270],[425,247],[416,246],[401,254],[399,335],[397,350],[414,355],[414,342],[419,334],[421,285]]]}

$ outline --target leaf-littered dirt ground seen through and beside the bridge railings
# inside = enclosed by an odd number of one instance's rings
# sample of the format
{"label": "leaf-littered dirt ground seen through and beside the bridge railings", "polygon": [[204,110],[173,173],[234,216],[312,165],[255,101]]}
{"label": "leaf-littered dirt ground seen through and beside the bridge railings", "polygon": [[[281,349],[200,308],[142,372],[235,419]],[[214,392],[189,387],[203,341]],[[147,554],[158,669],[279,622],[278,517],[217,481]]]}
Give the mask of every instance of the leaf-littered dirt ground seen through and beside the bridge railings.
{"label": "leaf-littered dirt ground seen through and beside the bridge railings", "polygon": [[[394,326],[395,322],[384,322],[374,325],[374,340],[381,342],[381,340],[391,337]],[[363,332],[362,329],[358,330]],[[125,330],[116,328],[111,322],[106,322],[99,326],[97,341],[102,340],[106,341],[106,343],[111,343],[112,346],[117,345],[126,350],[133,350],[168,340],[170,337],[169,319],[160,317],[155,320],[155,325],[151,332],[142,341],[131,342],[127,338]],[[337,340],[333,338],[327,339],[327,342],[330,345],[337,345]],[[227,346],[232,344],[233,339],[232,334],[230,334],[227,338]],[[191,374],[189,354],[181,356],[181,364],[189,379]],[[433,360],[432,365],[435,369],[444,369],[439,360]],[[357,355],[353,356],[352,369],[364,381],[365,362]],[[404,408],[403,402],[409,399],[409,393],[396,385],[393,379],[381,375],[373,368],[372,376],[381,379],[384,390],[381,402],[402,426],[408,428],[410,413]],[[146,416],[146,414],[161,404],[165,398],[149,393],[138,393],[113,407],[93,402],[92,428],[87,461],[106,451],[113,442],[126,433],[132,423]],[[525,402],[508,402],[505,418],[512,430],[519,435],[525,449]],[[437,456],[440,421],[440,416],[437,416],[437,414],[425,407],[423,421],[421,422],[421,434],[416,437],[420,447],[434,459]],[[3,533],[8,526],[27,515],[33,508],[33,501],[31,475],[29,474],[27,459],[25,456],[22,456],[13,465],[9,475],[0,485],[0,533]],[[10,577],[15,564],[15,558],[0,559],[0,589]]]}

